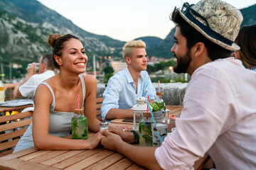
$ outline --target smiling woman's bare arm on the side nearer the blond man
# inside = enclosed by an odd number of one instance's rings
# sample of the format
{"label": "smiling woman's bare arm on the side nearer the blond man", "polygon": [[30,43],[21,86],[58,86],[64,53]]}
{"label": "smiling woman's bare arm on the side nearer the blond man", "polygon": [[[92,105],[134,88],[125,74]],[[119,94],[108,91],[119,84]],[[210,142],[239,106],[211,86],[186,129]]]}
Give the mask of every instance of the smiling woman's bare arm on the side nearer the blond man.
{"label": "smiling woman's bare arm on the side nearer the blond man", "polygon": [[91,75],[83,76],[85,79],[85,116],[88,120],[88,129],[93,132],[100,130],[100,120],[97,120],[96,115],[96,94],[97,94],[97,81]]}

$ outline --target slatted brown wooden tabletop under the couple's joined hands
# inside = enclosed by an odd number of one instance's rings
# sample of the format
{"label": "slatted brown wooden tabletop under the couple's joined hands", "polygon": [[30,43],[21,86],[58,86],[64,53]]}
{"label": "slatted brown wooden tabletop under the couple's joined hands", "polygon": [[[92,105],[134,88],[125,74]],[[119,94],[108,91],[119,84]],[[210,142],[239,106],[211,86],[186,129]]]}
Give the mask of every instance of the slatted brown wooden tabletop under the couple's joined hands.
{"label": "slatted brown wooden tabletop under the couple's joined hands", "polygon": [[[181,113],[182,106],[169,106],[170,113]],[[114,126],[132,123],[110,123]],[[89,133],[89,137],[95,135]],[[68,136],[71,138],[71,135]],[[144,169],[122,154],[98,146],[92,150],[36,150],[35,147],[0,157],[0,169]]]}

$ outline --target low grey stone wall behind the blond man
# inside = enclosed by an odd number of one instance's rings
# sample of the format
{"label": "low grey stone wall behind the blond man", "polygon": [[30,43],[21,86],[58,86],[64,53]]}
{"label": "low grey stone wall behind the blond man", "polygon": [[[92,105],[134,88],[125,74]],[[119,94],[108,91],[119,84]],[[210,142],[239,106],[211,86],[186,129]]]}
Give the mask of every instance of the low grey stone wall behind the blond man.
{"label": "low grey stone wall behind the blond man", "polygon": [[[158,91],[158,83],[153,83]],[[163,93],[163,100],[166,105],[182,105],[187,84],[183,83],[167,83],[160,84],[160,92]],[[97,84],[97,98],[101,98],[105,91],[105,84]]]}

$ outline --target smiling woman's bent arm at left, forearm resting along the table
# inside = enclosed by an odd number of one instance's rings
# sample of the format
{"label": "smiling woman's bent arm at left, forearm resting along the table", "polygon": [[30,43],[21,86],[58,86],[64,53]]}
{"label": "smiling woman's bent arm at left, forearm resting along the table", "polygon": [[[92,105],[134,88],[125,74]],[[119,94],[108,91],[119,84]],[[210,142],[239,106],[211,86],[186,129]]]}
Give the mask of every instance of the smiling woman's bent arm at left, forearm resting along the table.
{"label": "smiling woman's bent arm at left, forearm resting along the table", "polygon": [[70,140],[49,135],[49,109],[53,101],[52,98],[45,85],[38,86],[33,112],[33,142],[35,147],[38,149],[93,149],[97,147],[102,139],[102,135],[99,133],[88,140]]}

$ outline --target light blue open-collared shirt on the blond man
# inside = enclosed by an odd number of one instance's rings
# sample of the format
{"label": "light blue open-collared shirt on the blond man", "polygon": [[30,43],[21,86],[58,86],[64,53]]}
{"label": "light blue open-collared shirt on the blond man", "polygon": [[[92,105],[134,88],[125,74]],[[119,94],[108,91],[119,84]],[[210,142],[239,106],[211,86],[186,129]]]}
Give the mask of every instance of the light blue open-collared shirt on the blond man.
{"label": "light blue open-collared shirt on the blond man", "polygon": [[101,107],[102,118],[105,119],[111,108],[129,109],[137,102],[136,98],[146,97],[149,100],[156,96],[156,89],[151,83],[149,74],[142,71],[137,84],[137,94],[132,75],[129,69],[125,68],[114,74],[107,83],[107,88],[103,93],[104,101]]}

